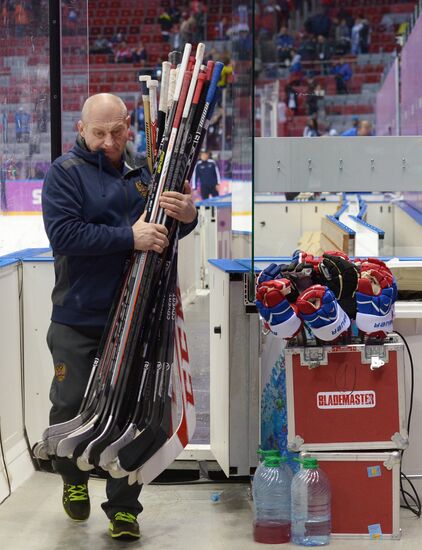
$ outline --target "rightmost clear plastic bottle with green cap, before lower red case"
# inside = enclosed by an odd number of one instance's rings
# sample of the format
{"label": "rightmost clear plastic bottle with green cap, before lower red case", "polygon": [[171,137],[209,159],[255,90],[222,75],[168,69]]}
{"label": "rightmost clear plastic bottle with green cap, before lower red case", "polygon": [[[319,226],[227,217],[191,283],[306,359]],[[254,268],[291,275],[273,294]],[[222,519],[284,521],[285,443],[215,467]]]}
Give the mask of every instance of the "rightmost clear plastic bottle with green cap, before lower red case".
{"label": "rightmost clear plastic bottle with green cap, before lower red case", "polygon": [[292,480],[292,542],[324,546],[331,535],[330,482],[316,458],[299,462],[302,468]]}

